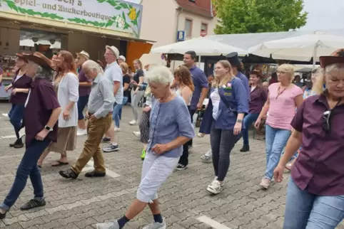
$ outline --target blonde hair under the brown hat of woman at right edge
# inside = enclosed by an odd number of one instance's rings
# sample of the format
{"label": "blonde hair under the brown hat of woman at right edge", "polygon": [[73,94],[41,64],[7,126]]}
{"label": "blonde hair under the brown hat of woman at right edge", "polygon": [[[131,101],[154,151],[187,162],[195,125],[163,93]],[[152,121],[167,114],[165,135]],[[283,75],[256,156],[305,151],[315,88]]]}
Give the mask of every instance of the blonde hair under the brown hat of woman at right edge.
{"label": "blonde hair under the brown hat of woman at right edge", "polygon": [[328,75],[334,71],[344,70],[344,63],[334,63],[332,65],[328,65],[325,68],[320,68],[316,73],[314,73],[316,80],[313,85],[313,92],[317,95],[321,95],[324,92],[324,84],[326,83],[326,78]]}

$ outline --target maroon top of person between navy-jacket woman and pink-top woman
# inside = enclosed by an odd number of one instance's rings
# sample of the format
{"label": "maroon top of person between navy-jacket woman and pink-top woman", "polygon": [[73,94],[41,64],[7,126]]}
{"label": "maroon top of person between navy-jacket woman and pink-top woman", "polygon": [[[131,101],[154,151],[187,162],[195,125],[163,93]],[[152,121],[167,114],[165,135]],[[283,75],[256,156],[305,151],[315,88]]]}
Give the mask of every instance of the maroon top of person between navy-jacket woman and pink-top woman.
{"label": "maroon top of person between navy-jacket woman and pink-top woman", "polygon": [[268,99],[268,90],[266,90],[264,87],[256,87],[255,89],[253,89],[250,95],[251,100],[248,101],[248,105],[250,107],[248,113],[259,114],[266,100]]}

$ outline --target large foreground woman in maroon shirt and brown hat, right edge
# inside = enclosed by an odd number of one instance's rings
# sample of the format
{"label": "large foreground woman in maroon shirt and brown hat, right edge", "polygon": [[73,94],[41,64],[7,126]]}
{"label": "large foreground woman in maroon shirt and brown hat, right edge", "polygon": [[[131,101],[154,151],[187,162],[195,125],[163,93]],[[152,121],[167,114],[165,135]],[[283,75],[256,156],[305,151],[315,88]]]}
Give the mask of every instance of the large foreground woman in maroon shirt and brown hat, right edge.
{"label": "large foreground woman in maroon shirt and brown hat, right edge", "polygon": [[[334,229],[344,218],[344,52],[320,57],[322,73],[291,125],[294,131],[274,171],[303,145],[291,169],[283,229]],[[323,90],[325,84],[325,90]]]}

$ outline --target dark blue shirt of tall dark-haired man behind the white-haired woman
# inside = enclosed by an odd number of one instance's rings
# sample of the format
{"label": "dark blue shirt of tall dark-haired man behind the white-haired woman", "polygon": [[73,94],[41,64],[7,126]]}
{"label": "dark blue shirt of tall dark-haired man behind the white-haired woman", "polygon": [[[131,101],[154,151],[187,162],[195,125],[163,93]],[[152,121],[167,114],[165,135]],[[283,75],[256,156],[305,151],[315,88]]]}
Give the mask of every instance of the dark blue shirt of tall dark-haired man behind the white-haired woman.
{"label": "dark blue shirt of tall dark-haired man behind the white-haired woman", "polygon": [[208,88],[208,80],[203,70],[196,66],[193,66],[189,70],[192,75],[193,85],[195,86],[195,90],[193,91],[191,98],[191,110],[197,110],[197,104],[201,97],[201,90],[202,88]]}

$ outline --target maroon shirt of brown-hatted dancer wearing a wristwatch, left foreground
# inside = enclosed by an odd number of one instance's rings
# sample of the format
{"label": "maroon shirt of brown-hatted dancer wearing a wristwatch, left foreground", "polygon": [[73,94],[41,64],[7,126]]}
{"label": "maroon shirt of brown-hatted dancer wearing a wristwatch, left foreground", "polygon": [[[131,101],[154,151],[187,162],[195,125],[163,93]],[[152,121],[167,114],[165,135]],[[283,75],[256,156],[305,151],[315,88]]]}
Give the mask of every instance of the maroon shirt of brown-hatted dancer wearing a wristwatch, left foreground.
{"label": "maroon shirt of brown-hatted dancer wearing a wristwatch, left foreground", "polygon": [[[23,124],[26,134],[26,147],[35,139],[36,134],[44,129],[52,110],[59,107],[60,104],[52,83],[46,79],[36,78],[31,83],[31,90],[24,111]],[[54,125],[53,131],[46,136],[46,139],[56,142],[57,129],[58,122]]]}

